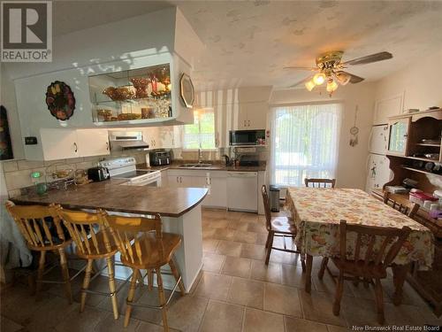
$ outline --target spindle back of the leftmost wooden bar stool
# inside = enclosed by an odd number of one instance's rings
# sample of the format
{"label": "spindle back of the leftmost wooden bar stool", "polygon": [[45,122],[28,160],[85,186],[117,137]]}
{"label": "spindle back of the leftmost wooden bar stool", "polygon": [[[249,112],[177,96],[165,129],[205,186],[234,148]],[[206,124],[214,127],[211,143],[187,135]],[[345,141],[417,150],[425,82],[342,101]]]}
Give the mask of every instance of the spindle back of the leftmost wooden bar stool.
{"label": "spindle back of the leftmost wooden bar stool", "polygon": [[[20,233],[25,237],[27,246],[34,250],[47,249],[65,243],[65,234],[60,220],[55,212],[54,205],[13,205],[6,202],[6,210],[17,223]],[[48,218],[53,220],[53,224]],[[55,226],[56,236],[50,229]]]}

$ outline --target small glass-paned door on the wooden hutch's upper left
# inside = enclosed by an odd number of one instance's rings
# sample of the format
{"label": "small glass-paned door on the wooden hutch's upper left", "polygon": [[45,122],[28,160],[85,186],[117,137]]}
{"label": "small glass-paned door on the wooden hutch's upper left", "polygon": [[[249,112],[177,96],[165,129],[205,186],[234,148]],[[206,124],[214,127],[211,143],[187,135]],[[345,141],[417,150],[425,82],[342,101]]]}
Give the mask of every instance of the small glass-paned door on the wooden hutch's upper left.
{"label": "small glass-paned door on the wooden hutch's upper left", "polygon": [[411,118],[390,120],[389,140],[387,154],[396,156],[407,156],[408,152],[408,130]]}

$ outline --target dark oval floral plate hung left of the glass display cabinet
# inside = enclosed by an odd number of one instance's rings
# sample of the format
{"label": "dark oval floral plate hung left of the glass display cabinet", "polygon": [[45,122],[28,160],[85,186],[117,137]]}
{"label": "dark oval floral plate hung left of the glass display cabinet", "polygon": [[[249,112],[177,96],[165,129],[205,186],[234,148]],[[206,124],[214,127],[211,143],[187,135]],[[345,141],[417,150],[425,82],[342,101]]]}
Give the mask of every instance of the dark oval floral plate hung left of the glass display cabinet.
{"label": "dark oval floral plate hung left of the glass display cabinet", "polygon": [[46,104],[50,114],[58,120],[68,120],[75,109],[75,98],[71,87],[64,81],[54,81],[46,90]]}

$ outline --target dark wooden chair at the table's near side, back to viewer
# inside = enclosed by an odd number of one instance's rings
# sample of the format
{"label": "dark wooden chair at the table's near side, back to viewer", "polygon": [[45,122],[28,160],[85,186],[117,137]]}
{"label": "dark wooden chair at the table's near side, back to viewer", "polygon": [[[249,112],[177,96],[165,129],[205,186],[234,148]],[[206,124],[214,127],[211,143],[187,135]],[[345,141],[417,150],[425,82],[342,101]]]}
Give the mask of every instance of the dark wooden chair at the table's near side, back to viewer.
{"label": "dark wooden chair at the table's near side, back to viewer", "polygon": [[[340,300],[344,290],[344,280],[364,280],[374,284],[377,304],[377,321],[383,324],[384,298],[381,279],[386,277],[386,268],[392,264],[407,240],[411,229],[403,228],[378,228],[363,225],[350,225],[346,220],[339,223],[339,256],[331,258],[339,269],[336,296],[333,303],[333,313],[339,315]],[[356,235],[354,257],[347,257],[347,235]],[[363,243],[363,246],[362,246]],[[362,256],[362,251],[365,254]],[[372,282],[374,280],[374,282]]]}

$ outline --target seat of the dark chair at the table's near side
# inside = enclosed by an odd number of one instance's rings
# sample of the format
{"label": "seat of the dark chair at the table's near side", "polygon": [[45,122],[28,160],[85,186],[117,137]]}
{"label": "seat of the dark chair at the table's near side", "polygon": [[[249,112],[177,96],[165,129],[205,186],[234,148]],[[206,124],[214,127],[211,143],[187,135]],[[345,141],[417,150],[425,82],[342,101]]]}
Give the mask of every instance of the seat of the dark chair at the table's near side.
{"label": "seat of the dark chair at the table's near side", "polygon": [[365,263],[365,260],[354,261],[352,259],[331,259],[336,267],[344,274],[351,274],[355,277],[383,279],[386,278],[385,267],[374,262]]}

